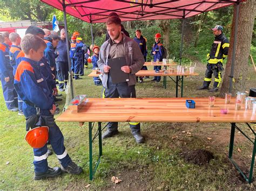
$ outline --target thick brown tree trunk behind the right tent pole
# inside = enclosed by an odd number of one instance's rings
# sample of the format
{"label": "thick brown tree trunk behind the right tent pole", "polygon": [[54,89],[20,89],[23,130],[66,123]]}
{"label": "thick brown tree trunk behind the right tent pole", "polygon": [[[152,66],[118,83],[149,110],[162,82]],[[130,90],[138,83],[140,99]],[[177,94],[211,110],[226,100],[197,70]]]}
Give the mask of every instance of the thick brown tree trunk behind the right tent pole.
{"label": "thick brown tree trunk behind the right tent pole", "polygon": [[[230,76],[231,74],[231,61],[232,61],[232,51],[234,47],[234,23],[236,6],[234,5],[233,21],[232,21],[232,32],[230,39],[230,48],[228,49],[228,59],[225,68],[225,75],[223,78],[223,84],[220,89],[220,97],[224,97],[225,93],[228,92],[230,86]],[[246,2],[240,3],[239,6],[239,18],[238,18],[238,31],[237,31],[237,44],[235,51],[235,61],[234,61],[234,78],[232,95],[234,96],[237,91],[245,90],[247,69],[248,69],[248,59],[251,48],[252,32],[254,17],[256,11],[256,1],[247,0]]]}

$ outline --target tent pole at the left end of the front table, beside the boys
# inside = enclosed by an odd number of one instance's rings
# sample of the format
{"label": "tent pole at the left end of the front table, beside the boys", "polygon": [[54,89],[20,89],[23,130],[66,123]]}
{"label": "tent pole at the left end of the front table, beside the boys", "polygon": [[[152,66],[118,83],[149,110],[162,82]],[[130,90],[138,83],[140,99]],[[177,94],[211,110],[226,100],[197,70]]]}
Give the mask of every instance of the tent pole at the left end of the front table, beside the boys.
{"label": "tent pole at the left end of the front table, beside the boys", "polygon": [[65,1],[62,2],[62,7],[63,7],[64,26],[65,26],[65,33],[66,33],[66,53],[68,54],[71,99],[73,99],[74,98],[74,91],[73,91],[73,82],[72,82],[73,79],[72,79],[72,75],[71,75],[71,61],[70,61],[70,58],[69,58],[69,35],[68,35],[68,25],[66,24],[66,5],[65,5]]}

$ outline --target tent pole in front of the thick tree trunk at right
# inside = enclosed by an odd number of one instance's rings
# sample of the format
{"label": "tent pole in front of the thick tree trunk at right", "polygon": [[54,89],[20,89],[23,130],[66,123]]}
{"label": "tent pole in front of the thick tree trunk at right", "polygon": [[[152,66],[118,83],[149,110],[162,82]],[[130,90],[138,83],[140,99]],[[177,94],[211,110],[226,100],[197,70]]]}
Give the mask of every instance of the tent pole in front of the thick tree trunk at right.
{"label": "tent pole in front of the thick tree trunk at right", "polygon": [[233,90],[233,75],[234,75],[234,62],[235,62],[235,48],[237,45],[237,28],[238,28],[238,17],[239,17],[239,1],[237,3],[237,6],[235,8],[235,26],[234,26],[234,44],[233,44],[233,51],[232,51],[232,61],[231,61],[231,72],[230,72],[230,89],[229,93],[232,93]]}

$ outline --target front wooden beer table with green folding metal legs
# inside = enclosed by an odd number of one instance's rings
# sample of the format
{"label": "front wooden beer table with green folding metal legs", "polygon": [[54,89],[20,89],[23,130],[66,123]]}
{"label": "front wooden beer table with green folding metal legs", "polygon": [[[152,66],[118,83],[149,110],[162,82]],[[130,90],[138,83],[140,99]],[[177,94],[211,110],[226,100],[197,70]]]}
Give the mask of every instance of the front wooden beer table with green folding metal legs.
{"label": "front wooden beer table with green folding metal legs", "polygon": [[[186,100],[196,102],[195,109],[186,108]],[[96,109],[97,108],[97,109]],[[221,114],[220,109],[227,109],[227,114]],[[186,122],[186,123],[231,123],[230,148],[228,158],[238,169],[248,183],[253,179],[253,166],[256,151],[256,133],[249,123],[256,123],[256,114],[252,110],[235,110],[235,99],[230,104],[225,104],[224,98],[215,98],[213,108],[208,107],[208,98],[87,98],[78,105],[70,105],[69,108],[57,118],[61,122],[78,122],[82,126],[89,123],[89,171],[90,180],[99,165],[102,156],[102,122]],[[96,135],[92,138],[92,128],[98,122]],[[249,138],[236,123],[246,123],[253,132],[254,140]],[[247,177],[238,165],[233,161],[233,146],[235,129],[250,140],[253,144],[250,175]],[[93,171],[92,143],[99,138],[99,159]]]}

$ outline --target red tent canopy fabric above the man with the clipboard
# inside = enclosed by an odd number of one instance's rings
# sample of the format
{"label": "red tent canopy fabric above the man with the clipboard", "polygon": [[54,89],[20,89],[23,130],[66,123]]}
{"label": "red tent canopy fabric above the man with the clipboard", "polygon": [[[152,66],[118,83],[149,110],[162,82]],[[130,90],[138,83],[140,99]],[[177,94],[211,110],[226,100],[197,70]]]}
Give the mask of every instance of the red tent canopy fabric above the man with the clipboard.
{"label": "red tent canopy fabric above the man with the clipboard", "polygon": [[122,21],[181,19],[202,12],[229,6],[241,0],[41,0],[42,2],[84,20],[104,23],[110,12],[116,12]]}

